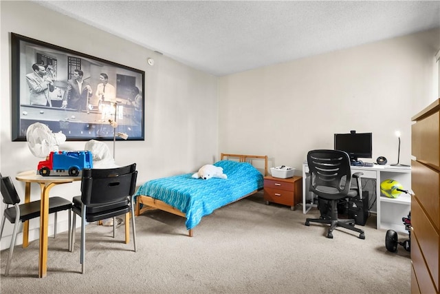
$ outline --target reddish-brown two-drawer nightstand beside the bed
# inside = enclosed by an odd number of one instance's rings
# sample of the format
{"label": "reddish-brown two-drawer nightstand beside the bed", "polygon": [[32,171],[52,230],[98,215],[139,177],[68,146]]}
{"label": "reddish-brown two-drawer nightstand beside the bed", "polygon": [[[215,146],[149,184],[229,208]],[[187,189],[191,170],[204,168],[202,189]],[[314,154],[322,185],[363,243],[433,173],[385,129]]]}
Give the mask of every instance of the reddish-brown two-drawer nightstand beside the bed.
{"label": "reddish-brown two-drawer nightstand beside the bed", "polygon": [[264,177],[264,200],[266,204],[270,202],[288,205],[295,210],[296,204],[303,195],[303,177],[294,176],[292,178]]}

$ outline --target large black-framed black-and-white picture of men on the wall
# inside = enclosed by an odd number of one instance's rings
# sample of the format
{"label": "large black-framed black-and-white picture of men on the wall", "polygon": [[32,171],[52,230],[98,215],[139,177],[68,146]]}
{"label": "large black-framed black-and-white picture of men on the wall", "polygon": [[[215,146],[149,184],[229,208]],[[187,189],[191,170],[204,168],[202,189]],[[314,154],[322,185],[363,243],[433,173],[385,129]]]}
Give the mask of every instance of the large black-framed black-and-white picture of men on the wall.
{"label": "large black-framed black-and-white picture of men on the wall", "polygon": [[[25,141],[26,130],[36,122],[70,141],[113,140],[115,134],[122,134],[117,140],[144,140],[144,71],[13,32],[10,36],[12,141]],[[82,91],[74,79],[78,70]]]}

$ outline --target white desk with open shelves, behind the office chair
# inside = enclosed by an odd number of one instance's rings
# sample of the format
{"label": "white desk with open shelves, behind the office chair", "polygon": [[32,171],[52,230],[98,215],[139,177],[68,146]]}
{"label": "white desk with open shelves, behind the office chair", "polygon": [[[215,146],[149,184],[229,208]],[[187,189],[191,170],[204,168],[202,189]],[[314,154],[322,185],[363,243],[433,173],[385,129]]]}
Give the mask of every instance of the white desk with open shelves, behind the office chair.
{"label": "white desk with open shelves, behind the office chair", "polygon": [[[411,167],[393,167],[391,165],[374,165],[373,167],[352,166],[351,172],[362,172],[361,178],[373,179],[376,181],[375,193],[377,229],[393,229],[401,233],[408,233],[401,218],[408,216],[411,209],[411,197],[409,194],[401,193],[398,198],[388,198],[380,193],[380,183],[388,178],[397,180],[404,189],[412,192]],[[309,192],[309,166],[303,162],[303,213],[309,212],[314,204],[314,194]],[[307,179],[307,180],[306,180]],[[309,197],[307,197],[309,196]],[[369,196],[371,199],[371,195]],[[309,202],[307,202],[309,201]],[[370,203],[371,205],[371,203]]]}

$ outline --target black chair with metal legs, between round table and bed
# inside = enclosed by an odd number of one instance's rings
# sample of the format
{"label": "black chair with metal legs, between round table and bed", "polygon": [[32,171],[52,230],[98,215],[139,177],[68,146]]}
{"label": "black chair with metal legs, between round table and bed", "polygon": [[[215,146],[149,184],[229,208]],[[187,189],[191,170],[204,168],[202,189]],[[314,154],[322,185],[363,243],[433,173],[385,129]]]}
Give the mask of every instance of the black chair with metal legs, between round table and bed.
{"label": "black chair with metal legs, between round table and bed", "polygon": [[[113,218],[113,238],[115,237],[115,217],[131,212],[134,251],[136,249],[135,214],[133,194],[135,193],[137,171],[136,164],[113,169],[83,169],[81,196],[74,197],[72,211],[81,217],[82,273],[85,272],[85,224],[107,218]],[[126,229],[128,224],[126,224]],[[72,245],[75,242],[76,215],[72,222]],[[126,231],[126,238],[128,238]]]}

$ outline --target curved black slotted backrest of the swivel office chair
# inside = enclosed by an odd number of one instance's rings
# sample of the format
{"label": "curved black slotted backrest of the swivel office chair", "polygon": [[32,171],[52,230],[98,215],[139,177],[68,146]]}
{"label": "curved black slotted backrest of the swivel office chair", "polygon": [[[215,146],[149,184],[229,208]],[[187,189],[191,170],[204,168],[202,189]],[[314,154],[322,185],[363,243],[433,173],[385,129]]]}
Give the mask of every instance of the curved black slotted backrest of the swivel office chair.
{"label": "curved black slotted backrest of the swivel office chair", "polygon": [[351,185],[350,157],[340,150],[312,150],[307,154],[309,190],[325,199],[347,195]]}

